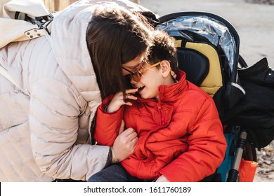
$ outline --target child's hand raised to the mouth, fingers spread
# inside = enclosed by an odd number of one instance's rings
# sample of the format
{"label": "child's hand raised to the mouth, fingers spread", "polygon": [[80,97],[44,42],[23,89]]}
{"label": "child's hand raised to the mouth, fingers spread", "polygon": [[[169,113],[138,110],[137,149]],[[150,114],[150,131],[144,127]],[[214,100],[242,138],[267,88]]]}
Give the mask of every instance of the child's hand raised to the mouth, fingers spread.
{"label": "child's hand raised to the mouth, fingers spread", "polygon": [[[126,90],[126,99],[136,100],[137,97],[133,96],[132,94],[134,94],[137,91],[138,89]],[[131,102],[124,102],[123,92],[117,92],[105,111],[107,113],[115,112],[119,110],[122,105],[132,106]]]}

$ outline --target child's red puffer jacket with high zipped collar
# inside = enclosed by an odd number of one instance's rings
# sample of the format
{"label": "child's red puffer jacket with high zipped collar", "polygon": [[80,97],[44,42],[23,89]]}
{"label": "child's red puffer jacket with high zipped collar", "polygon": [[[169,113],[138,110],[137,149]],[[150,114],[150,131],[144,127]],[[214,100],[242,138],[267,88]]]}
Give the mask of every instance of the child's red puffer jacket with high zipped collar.
{"label": "child's red puffer jacket with high zipped collar", "polygon": [[98,144],[112,146],[122,118],[138,133],[136,149],[122,165],[139,179],[164,175],[169,181],[200,181],[223,161],[226,139],[213,99],[185,80],[183,71],[178,75],[178,83],[158,87],[158,102],[138,99],[105,113],[109,97],[98,107]]}

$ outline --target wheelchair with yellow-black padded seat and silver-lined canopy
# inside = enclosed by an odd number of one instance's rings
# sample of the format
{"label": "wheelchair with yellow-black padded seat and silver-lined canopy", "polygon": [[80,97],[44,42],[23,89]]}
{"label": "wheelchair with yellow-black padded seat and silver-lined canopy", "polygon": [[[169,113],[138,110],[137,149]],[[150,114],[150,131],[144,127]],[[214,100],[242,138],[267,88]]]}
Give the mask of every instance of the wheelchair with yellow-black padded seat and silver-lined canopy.
{"label": "wheelchair with yellow-black padded seat and silver-lined canopy", "polygon": [[[251,176],[249,181],[253,181],[256,148],[249,143],[249,133],[244,127],[226,122],[227,111],[231,111],[245,94],[237,71],[239,67],[248,66],[239,54],[237,31],[224,18],[204,12],[164,15],[155,29],[166,31],[175,38],[179,69],[185,71],[187,80],[214,99],[223,123],[228,144],[226,157],[213,174],[215,177],[209,176],[204,181],[244,181],[244,175]],[[245,174],[241,171],[244,161],[252,165],[245,169]]]}

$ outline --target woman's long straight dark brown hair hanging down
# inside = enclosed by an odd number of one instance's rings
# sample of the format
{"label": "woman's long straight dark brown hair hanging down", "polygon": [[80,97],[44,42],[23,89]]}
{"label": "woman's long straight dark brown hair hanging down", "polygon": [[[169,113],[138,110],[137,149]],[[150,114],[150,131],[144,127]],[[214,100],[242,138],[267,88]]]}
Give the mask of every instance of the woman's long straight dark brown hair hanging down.
{"label": "woman's long straight dark brown hair hanging down", "polygon": [[119,91],[126,97],[122,64],[152,45],[151,30],[141,15],[122,7],[94,11],[86,41],[102,99]]}

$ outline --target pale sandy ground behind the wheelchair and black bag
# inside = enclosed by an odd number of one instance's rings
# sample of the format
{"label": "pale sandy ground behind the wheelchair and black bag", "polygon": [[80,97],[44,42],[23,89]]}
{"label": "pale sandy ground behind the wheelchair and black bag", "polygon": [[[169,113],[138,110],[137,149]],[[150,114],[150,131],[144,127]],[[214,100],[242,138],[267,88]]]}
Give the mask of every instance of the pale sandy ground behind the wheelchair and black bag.
{"label": "pale sandy ground behind the wheelchair and black bag", "polygon": [[[182,11],[204,11],[228,20],[240,36],[240,55],[249,66],[267,57],[274,68],[274,6],[244,0],[140,0],[159,16]],[[274,181],[274,142],[258,151],[254,181]]]}

